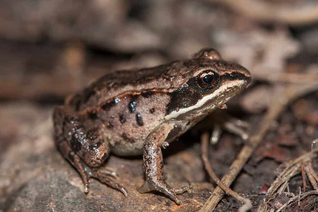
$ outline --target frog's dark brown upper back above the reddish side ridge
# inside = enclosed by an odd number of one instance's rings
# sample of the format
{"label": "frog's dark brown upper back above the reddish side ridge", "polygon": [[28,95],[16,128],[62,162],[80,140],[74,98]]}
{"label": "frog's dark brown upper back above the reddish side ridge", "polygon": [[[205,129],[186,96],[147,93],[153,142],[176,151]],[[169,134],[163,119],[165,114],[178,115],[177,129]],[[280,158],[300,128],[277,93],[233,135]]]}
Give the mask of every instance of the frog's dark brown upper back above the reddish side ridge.
{"label": "frog's dark brown upper back above the reddish side ridge", "polygon": [[[83,91],[66,99],[66,104],[74,111],[88,111],[97,105],[103,105],[120,95],[138,93],[145,90],[172,88],[169,81],[160,83],[158,79],[165,77],[170,65],[161,65],[141,70],[115,71],[104,75]],[[166,76],[167,78],[169,76]]]}

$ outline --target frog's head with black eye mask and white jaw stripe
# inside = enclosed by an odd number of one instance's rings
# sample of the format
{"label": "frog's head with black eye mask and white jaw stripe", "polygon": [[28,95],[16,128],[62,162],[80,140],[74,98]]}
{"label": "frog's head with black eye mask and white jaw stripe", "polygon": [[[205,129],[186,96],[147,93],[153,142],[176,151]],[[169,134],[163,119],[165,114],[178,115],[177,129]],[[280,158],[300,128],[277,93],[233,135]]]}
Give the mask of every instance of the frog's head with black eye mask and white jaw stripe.
{"label": "frog's head with black eye mask and white jaw stripe", "polygon": [[182,61],[178,88],[170,93],[165,119],[189,119],[225,104],[251,82],[243,66],[222,60],[214,49],[203,49]]}

